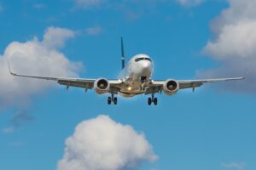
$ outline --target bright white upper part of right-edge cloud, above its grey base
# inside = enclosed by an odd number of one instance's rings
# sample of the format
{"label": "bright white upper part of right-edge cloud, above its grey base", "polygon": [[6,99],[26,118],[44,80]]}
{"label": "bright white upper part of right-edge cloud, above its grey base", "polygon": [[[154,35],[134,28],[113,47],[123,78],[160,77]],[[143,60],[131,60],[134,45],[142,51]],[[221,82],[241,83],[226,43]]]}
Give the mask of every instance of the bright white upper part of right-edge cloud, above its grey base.
{"label": "bright white upper part of right-edge cloud, above its grey base", "polygon": [[216,34],[206,46],[208,54],[218,59],[251,58],[256,54],[256,1],[229,0],[225,9],[212,22]]}

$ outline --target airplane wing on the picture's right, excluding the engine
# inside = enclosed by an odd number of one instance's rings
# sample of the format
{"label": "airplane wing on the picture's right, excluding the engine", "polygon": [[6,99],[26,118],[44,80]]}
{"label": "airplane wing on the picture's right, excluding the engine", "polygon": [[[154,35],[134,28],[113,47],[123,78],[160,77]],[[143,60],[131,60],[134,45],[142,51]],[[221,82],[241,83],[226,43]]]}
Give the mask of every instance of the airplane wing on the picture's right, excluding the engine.
{"label": "airplane wing on the picture's right, excluding the engine", "polygon": [[[226,81],[235,81],[243,80],[245,77],[234,77],[234,78],[215,78],[215,79],[201,79],[201,80],[177,80],[179,89],[192,88],[193,91],[197,87],[210,82],[226,82]],[[165,81],[152,81],[146,90],[146,94],[158,93],[163,90],[163,85]]]}

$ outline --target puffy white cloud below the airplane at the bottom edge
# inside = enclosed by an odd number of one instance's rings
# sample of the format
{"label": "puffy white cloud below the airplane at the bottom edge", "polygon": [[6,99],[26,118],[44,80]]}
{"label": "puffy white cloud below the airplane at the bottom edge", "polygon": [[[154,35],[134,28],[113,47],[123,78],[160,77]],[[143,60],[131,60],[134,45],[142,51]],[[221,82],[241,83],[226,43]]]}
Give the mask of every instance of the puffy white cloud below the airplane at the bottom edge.
{"label": "puffy white cloud below the airplane at the bottom edge", "polygon": [[66,140],[65,155],[58,170],[134,169],[156,156],[143,133],[113,122],[108,116],[81,122]]}

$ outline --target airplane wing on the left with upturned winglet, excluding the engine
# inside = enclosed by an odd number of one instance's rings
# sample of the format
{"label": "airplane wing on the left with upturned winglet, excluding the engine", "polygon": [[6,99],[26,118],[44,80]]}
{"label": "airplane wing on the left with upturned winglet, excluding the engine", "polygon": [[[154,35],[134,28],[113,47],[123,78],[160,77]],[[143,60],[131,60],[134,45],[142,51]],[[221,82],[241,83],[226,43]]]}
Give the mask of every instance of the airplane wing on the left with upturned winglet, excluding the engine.
{"label": "airplane wing on the left with upturned winglet, excluding the engine", "polygon": [[[27,77],[27,78],[34,78],[34,79],[41,79],[41,80],[49,80],[55,81],[61,85],[67,87],[76,87],[76,88],[84,88],[85,91],[88,89],[94,88],[94,82],[96,79],[86,79],[86,78],[67,78],[67,77],[39,77],[39,76],[32,76],[32,75],[21,75],[16,74],[10,70],[9,66],[9,73],[15,77]],[[119,92],[120,84],[122,83],[120,80],[109,80],[110,83],[110,92],[117,94]]]}

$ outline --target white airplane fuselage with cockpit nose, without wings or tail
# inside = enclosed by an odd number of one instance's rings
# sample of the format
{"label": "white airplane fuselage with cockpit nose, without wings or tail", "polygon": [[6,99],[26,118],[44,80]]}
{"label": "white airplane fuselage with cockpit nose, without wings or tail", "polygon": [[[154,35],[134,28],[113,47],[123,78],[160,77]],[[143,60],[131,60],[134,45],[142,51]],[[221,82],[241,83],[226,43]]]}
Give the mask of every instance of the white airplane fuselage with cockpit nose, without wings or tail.
{"label": "white airplane fuselage with cockpit nose, without wings or tail", "polygon": [[124,86],[119,94],[123,97],[132,97],[137,94],[143,94],[145,89],[143,83],[151,80],[154,72],[154,64],[146,54],[137,54],[130,59],[119,77]]}

